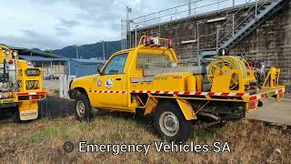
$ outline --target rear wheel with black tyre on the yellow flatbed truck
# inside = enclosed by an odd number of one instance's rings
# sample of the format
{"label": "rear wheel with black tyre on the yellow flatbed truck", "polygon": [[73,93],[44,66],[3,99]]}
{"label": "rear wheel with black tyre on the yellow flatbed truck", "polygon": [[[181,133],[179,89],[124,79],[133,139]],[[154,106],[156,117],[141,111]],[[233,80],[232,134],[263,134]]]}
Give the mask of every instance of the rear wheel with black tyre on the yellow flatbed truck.
{"label": "rear wheel with black tyre on the yellow flatbed truck", "polygon": [[163,101],[156,107],[154,124],[158,135],[168,141],[185,142],[193,135],[193,122],[186,120],[173,101]]}

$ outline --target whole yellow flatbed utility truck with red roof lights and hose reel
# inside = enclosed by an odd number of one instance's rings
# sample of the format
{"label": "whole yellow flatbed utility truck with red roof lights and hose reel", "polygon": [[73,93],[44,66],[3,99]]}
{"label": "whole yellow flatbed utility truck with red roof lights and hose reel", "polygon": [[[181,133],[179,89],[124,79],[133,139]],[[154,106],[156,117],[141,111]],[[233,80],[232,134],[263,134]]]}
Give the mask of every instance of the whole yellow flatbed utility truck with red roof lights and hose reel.
{"label": "whole yellow flatbed utility truck with red roof lights and hose reel", "polygon": [[91,108],[154,115],[160,137],[186,141],[193,126],[245,118],[266,97],[280,101],[285,87],[272,67],[264,86],[241,56],[217,56],[208,66],[182,66],[172,41],[143,36],[139,46],[112,55],[98,74],[70,84],[75,117],[92,118]]}

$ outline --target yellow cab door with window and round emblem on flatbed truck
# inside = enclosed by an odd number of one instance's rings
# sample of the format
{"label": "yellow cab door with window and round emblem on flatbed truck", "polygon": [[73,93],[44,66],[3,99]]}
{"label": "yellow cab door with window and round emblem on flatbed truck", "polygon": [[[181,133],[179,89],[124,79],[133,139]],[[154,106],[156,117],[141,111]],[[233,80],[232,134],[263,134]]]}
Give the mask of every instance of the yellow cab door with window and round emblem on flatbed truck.
{"label": "yellow cab door with window and round emblem on flatbed truck", "polygon": [[125,93],[125,63],[127,54],[111,58],[100,76],[96,77],[96,101],[100,106],[108,108],[126,108],[127,92]]}

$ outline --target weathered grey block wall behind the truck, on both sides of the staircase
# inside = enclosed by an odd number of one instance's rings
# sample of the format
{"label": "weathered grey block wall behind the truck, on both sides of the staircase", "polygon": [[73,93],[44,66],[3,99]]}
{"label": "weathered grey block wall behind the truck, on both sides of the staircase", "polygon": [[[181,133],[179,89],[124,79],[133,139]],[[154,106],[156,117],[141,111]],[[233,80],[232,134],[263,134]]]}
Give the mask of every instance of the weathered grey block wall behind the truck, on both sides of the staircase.
{"label": "weathered grey block wall behind the truck, on both sides of the staircase", "polygon": [[[230,50],[232,54],[243,52],[247,59],[261,60],[267,67],[282,68],[282,80],[291,83],[291,3],[269,18],[252,34],[246,36],[238,45]],[[175,50],[179,56],[196,57],[197,49],[216,47],[217,26],[225,21],[207,23],[206,20],[217,17],[229,17],[236,9],[221,11],[210,15],[190,17],[172,21],[159,26],[151,26],[137,30],[137,40],[140,36],[161,36],[172,38]],[[246,10],[240,12],[246,15]],[[231,27],[232,25],[228,25]],[[215,34],[215,35],[212,35]],[[212,35],[212,36],[211,36]],[[182,44],[183,41],[194,40],[192,44]],[[135,31],[132,32],[132,45],[135,46]]]}

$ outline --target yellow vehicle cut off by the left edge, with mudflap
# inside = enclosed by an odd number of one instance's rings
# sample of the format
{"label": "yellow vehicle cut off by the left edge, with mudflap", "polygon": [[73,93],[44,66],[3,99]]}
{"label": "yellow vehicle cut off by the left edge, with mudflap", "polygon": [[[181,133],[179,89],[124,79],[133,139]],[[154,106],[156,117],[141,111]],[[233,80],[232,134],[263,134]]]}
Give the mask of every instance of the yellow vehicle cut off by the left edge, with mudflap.
{"label": "yellow vehicle cut off by the left edge, with mudflap", "polygon": [[46,95],[41,68],[19,59],[17,51],[0,46],[0,91],[0,114],[16,109],[16,121],[37,118],[37,102]]}

